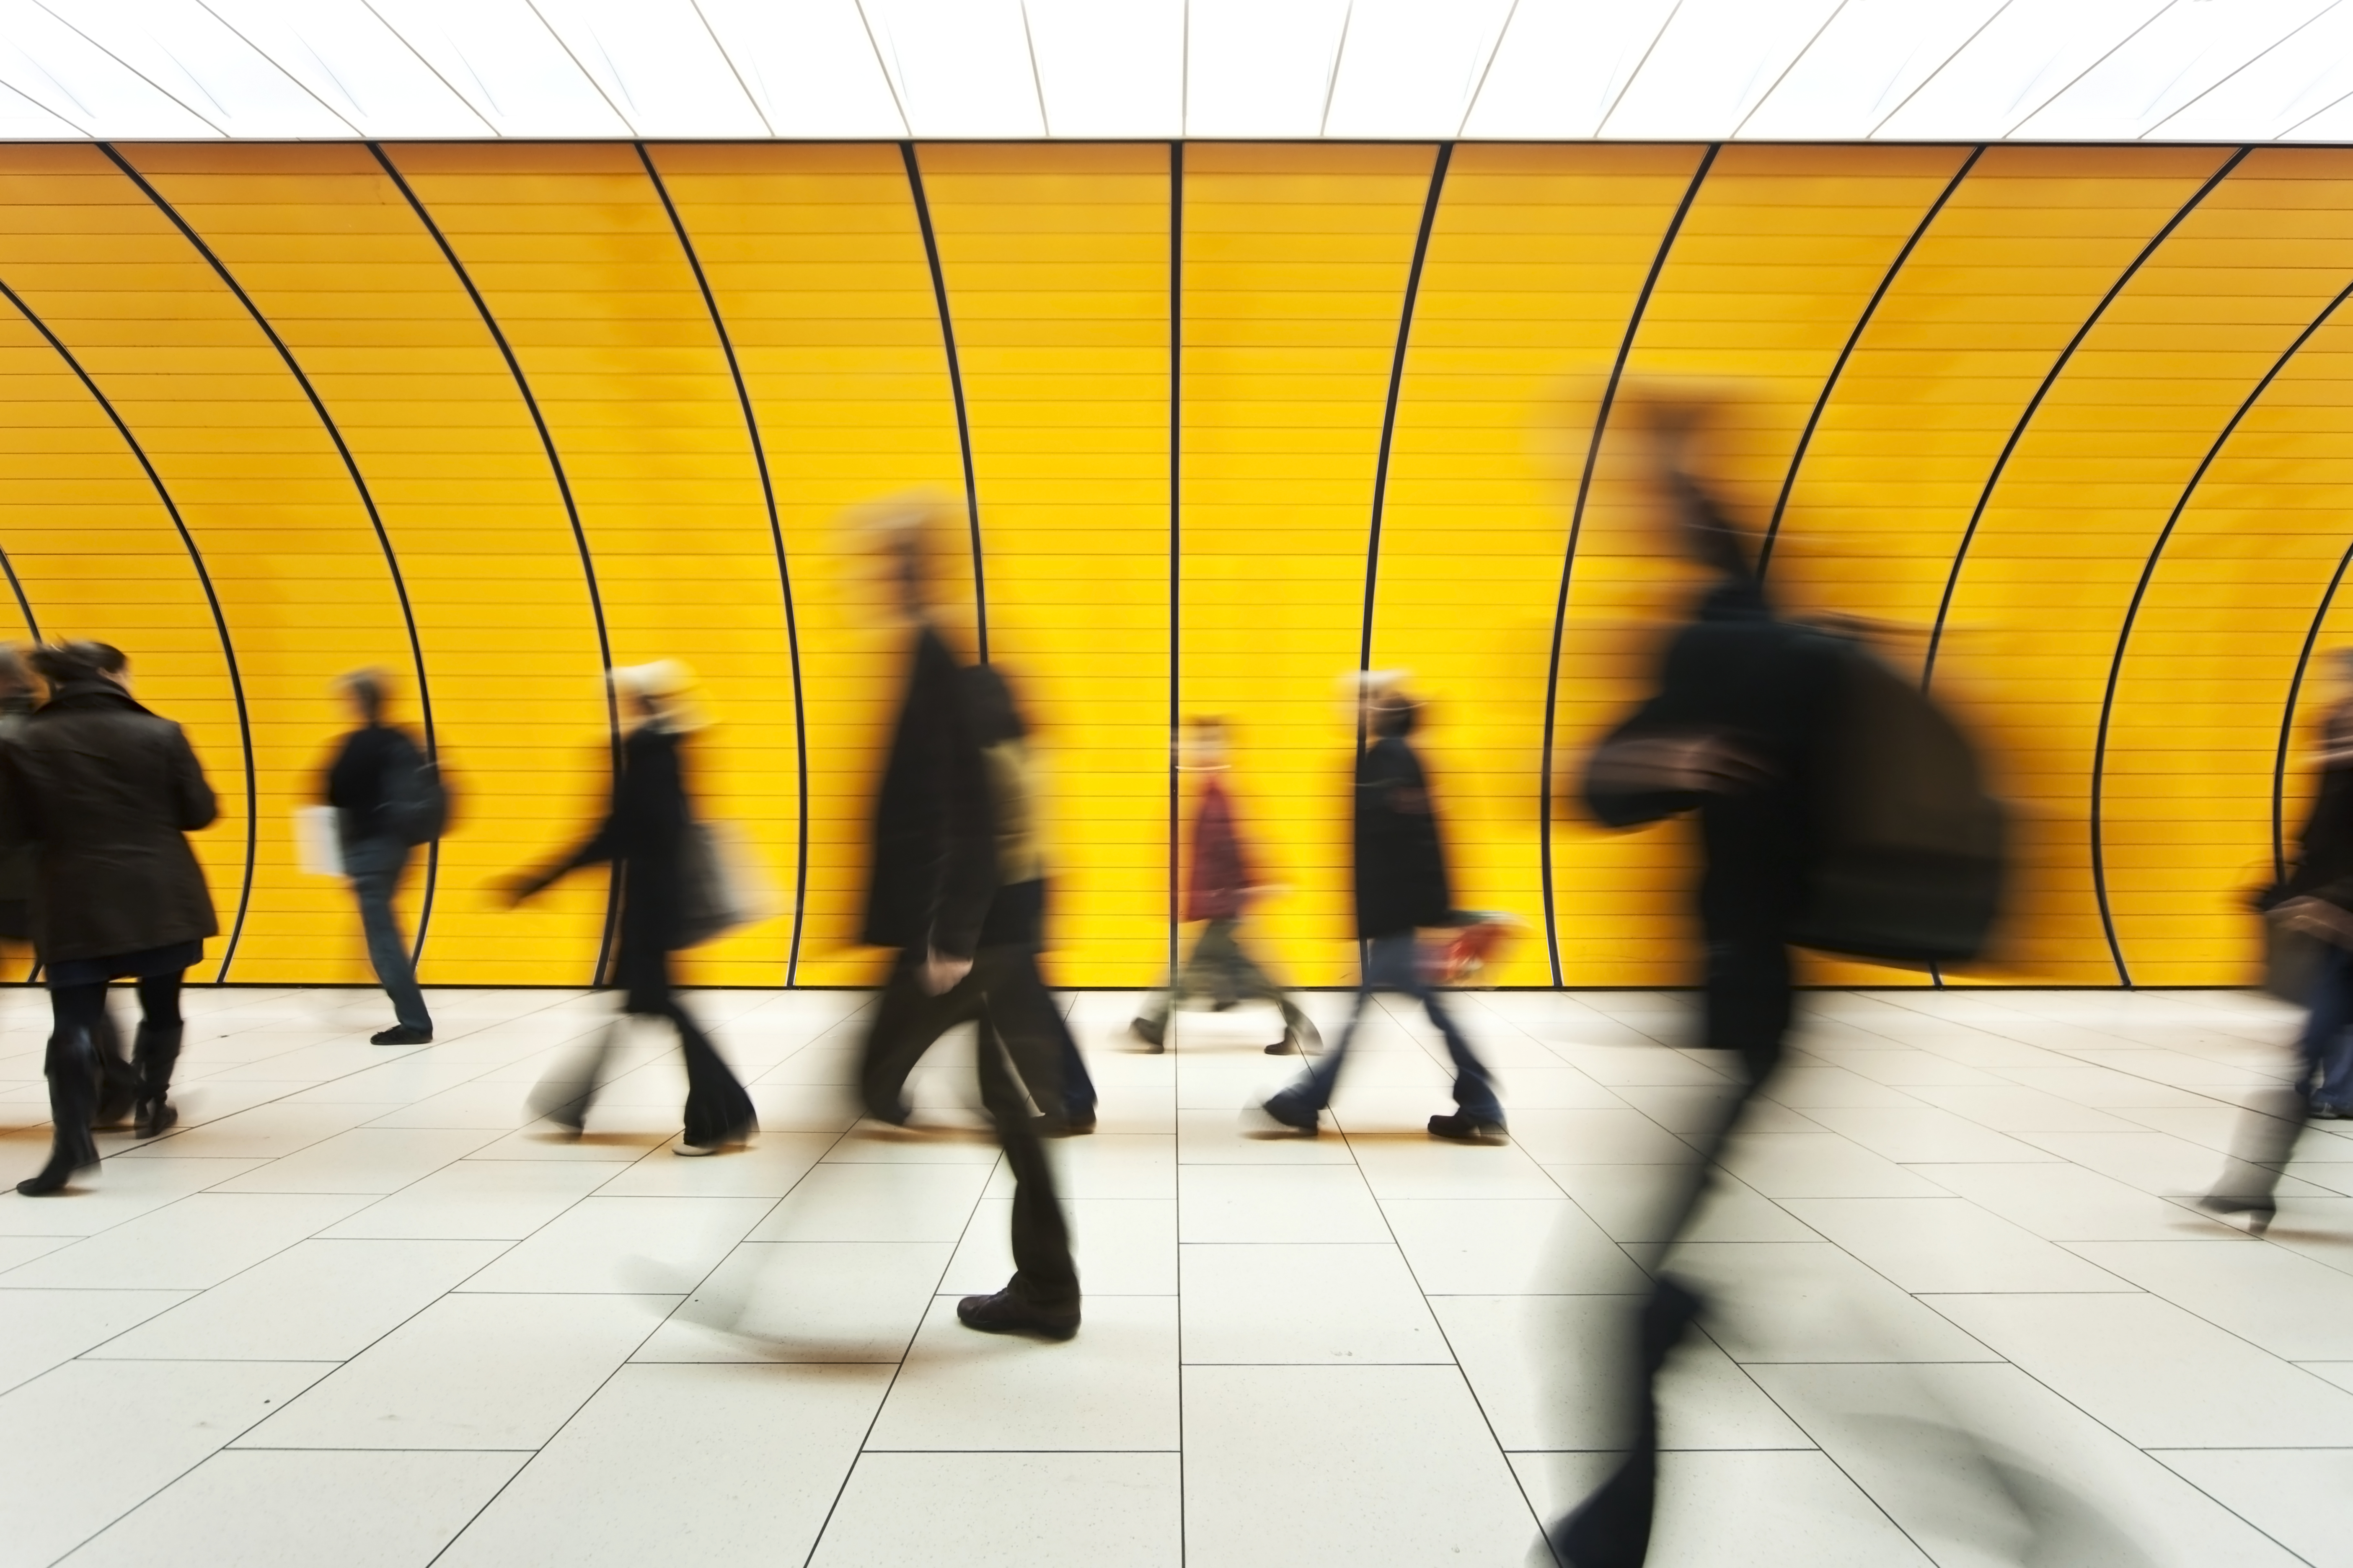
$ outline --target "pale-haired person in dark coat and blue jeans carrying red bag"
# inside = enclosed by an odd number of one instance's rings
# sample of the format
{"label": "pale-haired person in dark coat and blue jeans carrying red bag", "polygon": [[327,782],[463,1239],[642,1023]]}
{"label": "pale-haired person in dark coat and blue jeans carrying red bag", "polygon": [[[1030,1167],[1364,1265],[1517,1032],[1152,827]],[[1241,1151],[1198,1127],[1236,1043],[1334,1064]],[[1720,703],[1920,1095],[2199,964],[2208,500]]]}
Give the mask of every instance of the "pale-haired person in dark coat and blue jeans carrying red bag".
{"label": "pale-haired person in dark coat and blue jeans carrying red bag", "polygon": [[1431,1135],[1501,1143],[1504,1105],[1494,1098],[1494,1074],[1464,1039],[1421,966],[1421,929],[1454,924],[1438,806],[1412,745],[1421,703],[1395,686],[1367,684],[1360,705],[1372,738],[1355,759],[1355,936],[1365,973],[1339,1044],[1264,1110],[1282,1126],[1315,1135],[1365,1009],[1374,992],[1386,990],[1419,1001],[1454,1058],[1454,1110],[1431,1117]]}

